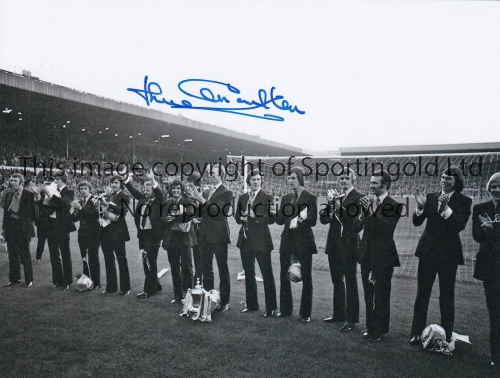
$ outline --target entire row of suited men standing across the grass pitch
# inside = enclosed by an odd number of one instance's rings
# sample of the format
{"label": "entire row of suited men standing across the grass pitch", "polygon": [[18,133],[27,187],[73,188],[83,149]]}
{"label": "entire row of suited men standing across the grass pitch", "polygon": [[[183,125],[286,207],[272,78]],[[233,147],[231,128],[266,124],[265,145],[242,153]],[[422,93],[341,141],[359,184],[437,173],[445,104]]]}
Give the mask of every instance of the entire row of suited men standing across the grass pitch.
{"label": "entire row of suited men standing across the grass pitch", "polygon": [[[27,191],[23,190],[23,176],[13,174],[10,179],[12,190],[6,196],[3,220],[3,234],[9,246],[9,282],[6,286],[20,283],[20,263],[24,265],[25,286],[32,286],[33,273],[29,241],[34,236],[33,221],[36,218],[35,203],[37,203],[39,219],[41,216],[45,217],[44,222],[49,225],[46,234],[54,287],[68,290],[72,283],[69,234],[75,229],[73,222],[79,220],[79,244],[84,261],[84,272],[99,287],[98,243],[96,242],[99,240],[105,257],[107,277],[106,290],[102,293],[108,294],[118,290],[116,256],[120,267],[121,293],[129,295],[130,278],[125,242],[130,237],[125,223],[127,206],[123,204],[128,204],[130,200],[122,190],[126,186],[132,196],[139,199],[138,207],[149,209],[148,214],[144,211],[135,213],[139,245],[141,250],[144,250],[145,273],[144,291],[138,297],[147,298],[161,290],[156,276],[156,259],[161,240],[165,238],[164,230],[168,229],[169,237],[165,247],[169,252],[172,269],[175,270],[172,274],[175,295],[172,302],[182,300],[185,291],[193,286],[192,265],[187,263],[187,260],[191,261],[191,255],[186,253],[186,250],[198,244],[199,258],[198,261],[195,259],[195,266],[201,267],[199,276],[203,280],[204,287],[206,290],[214,288],[213,257],[215,256],[220,275],[221,308],[223,311],[229,310],[230,276],[227,258],[230,239],[227,217],[232,204],[232,193],[222,184],[224,174],[222,166],[213,166],[208,180],[210,189],[207,190],[188,186],[184,191],[181,182],[172,186],[170,194],[173,200],[167,204],[169,208],[172,205],[176,206],[177,216],[183,215],[182,224],[179,221],[181,218],[172,216],[170,209],[166,212],[168,215],[165,219],[161,217],[165,201],[152,172],[147,175],[149,181],[145,183],[143,193],[136,189],[130,180],[123,182],[120,176],[114,176],[111,179],[112,192],[96,199],[90,194],[91,185],[87,182],[80,183],[78,185],[81,195],[79,202],[73,201],[74,193],[66,186],[66,175],[56,177],[53,186],[47,185],[48,182],[46,182],[40,186],[41,190],[32,186],[32,190]],[[266,211],[273,207],[272,197],[262,191],[262,177],[259,172],[252,171],[248,176],[247,183],[251,190],[239,199],[236,221],[242,227],[238,247],[241,251],[247,287],[247,306],[242,312],[258,309],[254,267],[255,259],[257,259],[264,276],[266,297],[264,316],[290,316],[293,312],[293,301],[287,273],[290,264],[298,261],[301,265],[303,282],[300,317],[304,323],[309,323],[313,293],[312,255],[317,253],[311,227],[314,227],[317,222],[317,198],[304,189],[304,173],[301,168],[291,169],[287,180],[291,193],[282,198],[277,214],[274,210]],[[330,224],[326,253],[334,285],[333,314],[324,320],[342,322],[340,330],[343,332],[352,330],[354,324],[359,322],[356,279],[359,262],[365,295],[367,327],[362,336],[372,342],[378,342],[389,332],[391,280],[394,267],[399,266],[394,231],[401,217],[403,205],[388,194],[391,176],[387,172],[375,172],[371,177],[369,183],[371,197],[363,196],[354,188],[355,180],[356,175],[352,170],[341,174],[339,182],[342,191],[329,191],[328,207],[326,211],[320,212],[321,223]],[[491,186],[491,183],[488,183],[488,186]],[[493,193],[500,192],[498,187],[500,185],[493,181]],[[417,209],[413,214],[413,223],[418,227],[427,219],[427,224],[416,250],[419,267],[410,338],[412,345],[421,343],[420,334],[426,326],[429,298],[436,275],[438,275],[441,323],[446,331],[445,347],[453,348],[455,277],[458,265],[464,264],[459,233],[465,228],[470,217],[472,203],[469,197],[461,193],[462,189],[461,170],[451,167],[442,173],[440,192],[424,196],[417,191]],[[182,195],[183,198],[181,198]],[[96,206],[96,201],[98,206]],[[191,229],[191,222],[196,211],[193,211],[186,219],[187,211],[179,212],[181,205],[184,209],[191,205],[193,209],[199,210],[197,212],[201,221],[197,233]],[[494,205],[496,209],[496,197]],[[73,214],[70,212],[72,207],[75,210]],[[494,209],[490,213],[496,216]],[[496,230],[497,222],[496,219],[493,222],[491,218],[486,219],[483,215],[479,218],[480,215],[479,213],[475,215],[475,219],[478,219],[476,223],[480,220],[482,224],[480,227],[474,225],[474,237],[484,243],[484,240],[487,240],[493,233],[491,230]],[[270,259],[273,244],[269,224],[274,221],[279,225],[284,225],[280,244],[281,312],[277,311],[276,289]],[[165,224],[168,226],[165,227]],[[363,237],[360,238],[359,233],[362,230]],[[188,236],[182,239],[180,233]],[[176,238],[178,240],[172,242]],[[496,242],[495,239],[492,243]],[[37,258],[39,258],[38,255]],[[487,276],[482,273],[481,269],[476,269],[476,275],[480,278]],[[495,297],[496,294],[493,295],[495,299],[491,299],[488,293],[497,290],[498,285],[496,283],[492,285],[490,281],[490,277],[487,276],[485,290],[487,298],[490,298],[488,299],[490,313],[496,316],[498,299]],[[498,328],[498,325],[492,321],[492,335],[498,334]],[[451,351],[448,354],[451,354]],[[496,341],[492,341],[492,358],[493,362],[498,363]]]}

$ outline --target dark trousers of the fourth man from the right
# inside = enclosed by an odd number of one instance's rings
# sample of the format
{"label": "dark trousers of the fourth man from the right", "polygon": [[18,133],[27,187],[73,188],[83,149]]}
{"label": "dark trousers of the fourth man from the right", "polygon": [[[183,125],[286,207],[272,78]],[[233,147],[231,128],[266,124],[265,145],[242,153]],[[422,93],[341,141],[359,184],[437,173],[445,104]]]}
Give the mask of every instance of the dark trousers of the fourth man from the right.
{"label": "dark trousers of the fourth man from the right", "polygon": [[330,276],[333,283],[333,318],[349,323],[359,322],[359,294],[356,277],[358,263],[354,261],[339,261],[333,255],[328,255]]}

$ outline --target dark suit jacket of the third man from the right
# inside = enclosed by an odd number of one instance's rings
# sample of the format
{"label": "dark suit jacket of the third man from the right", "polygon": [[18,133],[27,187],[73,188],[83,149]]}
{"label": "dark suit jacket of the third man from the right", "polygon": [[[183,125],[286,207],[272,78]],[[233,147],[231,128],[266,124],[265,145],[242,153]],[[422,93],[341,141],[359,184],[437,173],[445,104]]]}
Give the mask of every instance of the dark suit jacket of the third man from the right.
{"label": "dark suit jacket of the third man from the right", "polygon": [[375,273],[400,266],[394,242],[394,230],[401,214],[401,210],[398,213],[399,205],[401,204],[388,195],[373,215],[365,216],[365,210],[360,207],[361,213],[353,222],[355,232],[364,229],[358,252],[359,262],[368,263],[365,257],[369,256],[371,269]]}

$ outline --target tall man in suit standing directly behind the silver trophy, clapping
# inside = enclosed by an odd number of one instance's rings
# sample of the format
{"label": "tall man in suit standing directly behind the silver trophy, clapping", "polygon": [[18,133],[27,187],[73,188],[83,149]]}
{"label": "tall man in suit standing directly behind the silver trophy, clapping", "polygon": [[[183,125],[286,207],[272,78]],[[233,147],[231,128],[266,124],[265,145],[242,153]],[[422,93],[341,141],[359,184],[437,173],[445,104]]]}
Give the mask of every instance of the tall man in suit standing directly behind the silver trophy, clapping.
{"label": "tall man in suit standing directly behind the silver trophy, clapping", "polygon": [[203,287],[207,291],[214,288],[213,258],[215,255],[220,278],[220,309],[227,311],[231,293],[227,265],[227,246],[231,241],[227,217],[231,214],[233,193],[222,184],[224,175],[223,165],[211,165],[207,180],[211,189],[205,190],[202,194],[188,188],[187,195],[199,203],[198,213],[201,215],[201,223],[198,243],[202,260]]}

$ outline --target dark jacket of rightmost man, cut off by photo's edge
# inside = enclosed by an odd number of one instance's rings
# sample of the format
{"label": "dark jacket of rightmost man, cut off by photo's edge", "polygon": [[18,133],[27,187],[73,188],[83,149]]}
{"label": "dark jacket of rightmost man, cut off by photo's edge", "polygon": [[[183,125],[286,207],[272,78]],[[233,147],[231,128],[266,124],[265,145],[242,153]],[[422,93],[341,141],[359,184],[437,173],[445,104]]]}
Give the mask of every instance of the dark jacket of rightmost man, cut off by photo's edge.
{"label": "dark jacket of rightmost man, cut off by photo's edge", "polygon": [[500,272],[500,223],[493,223],[493,229],[486,232],[479,220],[479,215],[484,214],[495,219],[493,200],[477,204],[472,210],[472,236],[479,243],[474,278],[482,281],[497,280]]}

